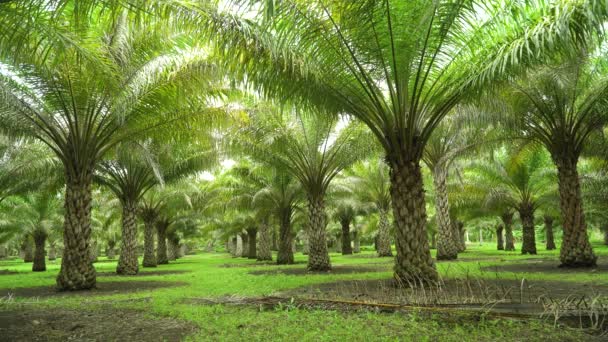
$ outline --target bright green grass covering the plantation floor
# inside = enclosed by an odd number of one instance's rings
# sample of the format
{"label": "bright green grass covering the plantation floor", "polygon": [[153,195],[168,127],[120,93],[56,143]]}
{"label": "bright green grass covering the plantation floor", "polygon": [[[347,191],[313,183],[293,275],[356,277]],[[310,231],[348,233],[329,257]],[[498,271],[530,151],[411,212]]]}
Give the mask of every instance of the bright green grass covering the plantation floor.
{"label": "bright green grass covering the plantation floor", "polygon": [[[595,245],[598,255],[608,256],[608,247]],[[454,263],[439,263],[438,270],[444,277],[496,277],[512,278],[509,272],[488,272],[480,267],[526,263],[529,259],[557,259],[558,251],[544,251],[539,246],[539,255],[521,256],[518,252],[498,252],[493,244],[471,245]],[[365,252],[355,256],[331,255],[334,265],[365,265],[384,262]],[[480,261],[480,259],[486,259]],[[296,261],[305,261],[306,256],[298,253]],[[468,260],[468,261],[467,261]],[[527,340],[582,340],[588,336],[569,328],[555,329],[553,325],[541,321],[489,319],[467,320],[446,318],[445,316],[421,313],[381,314],[373,312],[342,312],[334,310],[307,310],[289,306],[276,310],[260,310],[255,307],[235,307],[228,305],[200,305],[185,301],[188,298],[213,298],[222,296],[265,296],[278,291],[301,286],[350,279],[382,279],[390,277],[390,261],[386,271],[354,274],[329,275],[252,275],[252,270],[274,270],[277,268],[303,268],[294,266],[256,266],[254,260],[231,258],[227,254],[199,254],[187,256],[169,265],[150,271],[186,271],[181,274],[153,275],[137,277],[138,281],[179,281],[186,286],[142,290],[131,293],[105,294],[99,296],[71,295],[48,298],[11,298],[5,300],[0,310],[11,305],[27,307],[70,307],[95,308],[110,303],[116,308],[137,308],[144,310],[150,318],[171,316],[195,323],[199,330],[192,340],[416,340],[416,341],[492,341],[509,339]],[[230,264],[231,267],[225,267]],[[0,261],[0,270],[17,271],[17,274],[0,275],[0,288],[52,286],[59,270],[59,261],[48,262],[46,272],[31,272],[31,264],[22,260]],[[241,267],[242,266],[242,267]],[[98,272],[111,272],[116,261],[100,258],[95,264]],[[537,280],[560,280],[586,284],[608,284],[608,277],[602,272],[576,273],[518,273],[517,276]],[[98,277],[98,282],[132,281],[134,277]],[[147,298],[148,300],[137,301]]]}

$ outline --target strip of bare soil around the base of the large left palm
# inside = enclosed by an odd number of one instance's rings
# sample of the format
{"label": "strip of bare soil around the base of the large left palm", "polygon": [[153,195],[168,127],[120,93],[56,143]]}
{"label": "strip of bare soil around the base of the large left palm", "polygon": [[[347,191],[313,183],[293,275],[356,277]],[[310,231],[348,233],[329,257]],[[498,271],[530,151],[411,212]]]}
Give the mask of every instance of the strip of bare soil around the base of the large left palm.
{"label": "strip of bare soil around the base of the large left palm", "polygon": [[0,289],[1,297],[51,297],[51,296],[98,296],[153,290],[164,287],[184,286],[183,282],[169,281],[109,281],[98,282],[97,288],[84,291],[57,291],[54,286],[18,287]]}

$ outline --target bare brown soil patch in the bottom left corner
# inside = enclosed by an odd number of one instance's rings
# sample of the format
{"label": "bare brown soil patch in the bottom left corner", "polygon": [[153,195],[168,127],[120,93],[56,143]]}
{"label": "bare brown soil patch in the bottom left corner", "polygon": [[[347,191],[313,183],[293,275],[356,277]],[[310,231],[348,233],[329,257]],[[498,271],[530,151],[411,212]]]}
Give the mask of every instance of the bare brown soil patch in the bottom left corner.
{"label": "bare brown soil patch in the bottom left corner", "polygon": [[189,322],[116,308],[0,308],[2,341],[181,341],[196,326]]}

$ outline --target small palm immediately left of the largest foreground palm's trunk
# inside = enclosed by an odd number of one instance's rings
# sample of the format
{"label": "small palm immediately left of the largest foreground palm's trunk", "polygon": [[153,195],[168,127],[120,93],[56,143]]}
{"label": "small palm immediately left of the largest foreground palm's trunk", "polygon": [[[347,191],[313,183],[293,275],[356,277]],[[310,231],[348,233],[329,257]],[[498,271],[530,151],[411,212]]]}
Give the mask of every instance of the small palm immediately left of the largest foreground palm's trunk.
{"label": "small palm immediately left of the largest foreground palm's trunk", "polygon": [[346,170],[346,184],[362,203],[373,205],[378,212],[377,252],[379,257],[390,257],[389,210],[391,205],[390,178],[387,165],[380,159],[358,162]]}

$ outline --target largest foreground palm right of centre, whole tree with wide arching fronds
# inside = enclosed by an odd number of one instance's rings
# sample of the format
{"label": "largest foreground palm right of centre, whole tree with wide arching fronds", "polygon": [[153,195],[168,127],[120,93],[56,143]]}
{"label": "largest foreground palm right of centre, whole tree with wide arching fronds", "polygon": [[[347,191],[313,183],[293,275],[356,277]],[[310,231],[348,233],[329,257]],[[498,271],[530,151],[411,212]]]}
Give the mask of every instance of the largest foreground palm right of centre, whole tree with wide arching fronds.
{"label": "largest foreground palm right of centre, whole tree with wide arching fronds", "polygon": [[[420,171],[437,125],[507,72],[581,44],[606,13],[595,1],[568,0],[251,2],[211,25],[218,51],[267,95],[346,112],[369,127],[391,170],[395,276],[410,284],[437,279]],[[251,24],[252,11],[268,8],[270,18],[266,11]]]}

